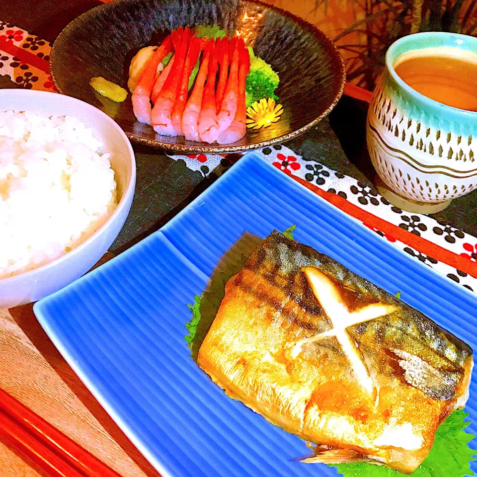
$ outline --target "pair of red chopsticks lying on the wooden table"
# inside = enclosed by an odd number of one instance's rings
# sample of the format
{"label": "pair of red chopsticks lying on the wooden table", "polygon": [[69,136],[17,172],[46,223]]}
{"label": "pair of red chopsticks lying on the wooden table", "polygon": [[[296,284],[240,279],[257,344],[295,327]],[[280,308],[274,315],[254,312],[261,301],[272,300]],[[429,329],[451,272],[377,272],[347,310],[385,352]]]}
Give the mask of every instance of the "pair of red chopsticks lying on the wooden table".
{"label": "pair of red chopsticks lying on the wooden table", "polygon": [[1,389],[0,435],[52,477],[121,477]]}

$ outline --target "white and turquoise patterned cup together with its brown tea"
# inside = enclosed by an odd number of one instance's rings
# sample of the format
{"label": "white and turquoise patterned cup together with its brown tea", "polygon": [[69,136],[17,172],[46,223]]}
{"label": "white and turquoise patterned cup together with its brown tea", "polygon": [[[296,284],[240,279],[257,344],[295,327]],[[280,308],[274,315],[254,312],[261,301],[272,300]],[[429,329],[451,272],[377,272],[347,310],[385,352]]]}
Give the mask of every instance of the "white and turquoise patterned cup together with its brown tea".
{"label": "white and turquoise patterned cup together with its brown tea", "polygon": [[439,212],[477,188],[477,38],[393,43],[366,126],[378,190],[399,208]]}

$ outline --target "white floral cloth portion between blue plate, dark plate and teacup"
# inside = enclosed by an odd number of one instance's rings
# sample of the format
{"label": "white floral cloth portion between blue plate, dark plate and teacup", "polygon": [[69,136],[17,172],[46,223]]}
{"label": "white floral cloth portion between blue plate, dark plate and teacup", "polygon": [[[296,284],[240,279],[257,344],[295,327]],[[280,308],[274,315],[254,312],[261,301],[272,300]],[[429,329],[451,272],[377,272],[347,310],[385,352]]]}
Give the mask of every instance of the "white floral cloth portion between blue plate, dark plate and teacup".
{"label": "white floral cloth portion between blue plate, dark plate and teacup", "polygon": [[[363,223],[414,259],[477,292],[477,239],[431,217],[410,214],[361,181],[317,159],[304,159],[284,145],[256,151],[285,174]],[[231,157],[233,156],[233,157]],[[240,155],[170,156],[204,176],[226,170]]]}

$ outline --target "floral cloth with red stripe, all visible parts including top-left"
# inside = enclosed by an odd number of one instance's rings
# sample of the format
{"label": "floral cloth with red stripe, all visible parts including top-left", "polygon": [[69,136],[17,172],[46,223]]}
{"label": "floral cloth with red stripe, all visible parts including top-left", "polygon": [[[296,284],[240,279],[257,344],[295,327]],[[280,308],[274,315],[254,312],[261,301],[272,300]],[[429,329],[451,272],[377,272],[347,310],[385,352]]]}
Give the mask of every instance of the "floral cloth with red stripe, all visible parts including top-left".
{"label": "floral cloth with red stripe, all visible parts including top-left", "polygon": [[[20,87],[55,91],[49,76],[50,44],[27,31],[0,21],[0,75]],[[477,239],[459,229],[420,214],[409,214],[366,184],[304,159],[286,146],[257,151],[265,160],[312,189],[414,259],[477,292]],[[233,155],[170,156],[208,176],[220,175],[240,158]]]}

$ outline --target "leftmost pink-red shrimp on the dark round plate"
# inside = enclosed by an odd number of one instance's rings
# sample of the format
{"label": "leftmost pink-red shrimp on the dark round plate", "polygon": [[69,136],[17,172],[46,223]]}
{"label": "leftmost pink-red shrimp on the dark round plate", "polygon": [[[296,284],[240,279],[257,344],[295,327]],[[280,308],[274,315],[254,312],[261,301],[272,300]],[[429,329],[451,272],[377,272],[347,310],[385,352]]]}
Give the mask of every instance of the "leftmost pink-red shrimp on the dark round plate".
{"label": "leftmost pink-red shrimp on the dark round plate", "polygon": [[170,53],[172,42],[168,35],[149,60],[132,95],[133,111],[140,123],[151,124],[151,91],[156,80],[158,66],[162,58]]}

